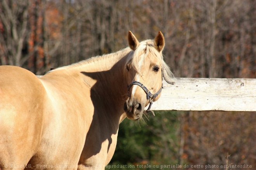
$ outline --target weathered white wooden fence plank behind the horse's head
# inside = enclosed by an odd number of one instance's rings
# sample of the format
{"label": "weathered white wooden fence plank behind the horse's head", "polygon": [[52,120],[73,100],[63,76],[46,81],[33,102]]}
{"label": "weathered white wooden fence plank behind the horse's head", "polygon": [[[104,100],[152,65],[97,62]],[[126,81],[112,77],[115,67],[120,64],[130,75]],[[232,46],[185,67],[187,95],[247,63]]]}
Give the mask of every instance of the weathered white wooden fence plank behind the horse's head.
{"label": "weathered white wooden fence plank behind the horse's head", "polygon": [[152,110],[256,111],[256,79],[176,78]]}

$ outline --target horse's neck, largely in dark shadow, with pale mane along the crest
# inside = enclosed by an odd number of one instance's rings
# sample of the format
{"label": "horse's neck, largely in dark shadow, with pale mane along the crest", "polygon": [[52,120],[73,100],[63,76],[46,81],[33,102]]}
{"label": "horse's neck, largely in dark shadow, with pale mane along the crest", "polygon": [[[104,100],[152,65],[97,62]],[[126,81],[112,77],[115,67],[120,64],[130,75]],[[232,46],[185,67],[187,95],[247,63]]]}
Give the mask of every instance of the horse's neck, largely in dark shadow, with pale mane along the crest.
{"label": "horse's neck, largely in dark shadow, with pale mane along the crest", "polygon": [[82,80],[86,87],[90,88],[94,108],[102,109],[99,112],[110,114],[110,117],[116,117],[121,122],[125,118],[123,103],[128,93],[124,69],[129,52],[126,49],[123,52],[95,57],[53,70],[50,74],[56,74],[58,77],[70,75]]}

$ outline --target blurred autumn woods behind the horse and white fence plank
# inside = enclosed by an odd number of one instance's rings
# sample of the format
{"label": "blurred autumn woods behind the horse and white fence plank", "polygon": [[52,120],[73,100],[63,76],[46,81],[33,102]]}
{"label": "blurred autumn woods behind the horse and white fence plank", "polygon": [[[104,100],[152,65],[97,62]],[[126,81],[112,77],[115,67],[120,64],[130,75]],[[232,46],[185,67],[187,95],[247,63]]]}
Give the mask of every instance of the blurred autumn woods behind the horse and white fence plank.
{"label": "blurred autumn woods behind the horse and white fence plank", "polygon": [[[125,48],[129,30],[139,41],[163,32],[175,77],[256,78],[256,0],[1,0],[0,65],[42,75]],[[220,166],[227,155],[256,168],[255,112],[125,120],[110,165]]]}

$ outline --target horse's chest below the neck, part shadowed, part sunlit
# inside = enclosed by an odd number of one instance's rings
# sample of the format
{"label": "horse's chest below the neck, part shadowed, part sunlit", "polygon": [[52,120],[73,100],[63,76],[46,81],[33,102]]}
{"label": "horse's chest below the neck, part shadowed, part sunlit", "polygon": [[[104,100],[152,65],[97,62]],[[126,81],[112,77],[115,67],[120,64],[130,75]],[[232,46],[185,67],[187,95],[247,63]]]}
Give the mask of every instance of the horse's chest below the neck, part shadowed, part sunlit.
{"label": "horse's chest below the neck, part shadowed, part sunlit", "polygon": [[109,124],[106,120],[104,123],[101,122],[97,114],[93,115],[80,163],[90,166],[107,165],[114,154],[117,135],[118,125],[113,127],[113,124]]}

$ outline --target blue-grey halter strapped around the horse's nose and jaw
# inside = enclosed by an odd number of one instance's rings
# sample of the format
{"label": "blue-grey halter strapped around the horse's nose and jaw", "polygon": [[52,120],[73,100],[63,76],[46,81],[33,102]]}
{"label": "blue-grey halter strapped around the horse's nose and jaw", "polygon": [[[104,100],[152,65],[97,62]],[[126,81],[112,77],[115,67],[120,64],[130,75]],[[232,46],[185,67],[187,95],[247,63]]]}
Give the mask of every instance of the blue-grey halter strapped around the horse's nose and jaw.
{"label": "blue-grey halter strapped around the horse's nose and jaw", "polygon": [[153,115],[155,115],[154,112],[152,110],[149,110],[149,109],[151,108],[151,106],[153,104],[153,100],[155,98],[157,98],[157,96],[161,93],[161,91],[163,89],[163,83],[162,83],[162,86],[159,89],[159,91],[157,91],[155,94],[150,93],[150,91],[142,83],[140,83],[138,81],[131,82],[131,84],[128,86],[128,92],[130,91],[130,88],[133,85],[140,86],[145,91],[145,93],[147,94],[147,100],[149,100],[149,103],[150,103],[149,108],[147,108],[146,112],[148,112],[148,113],[151,112]]}

